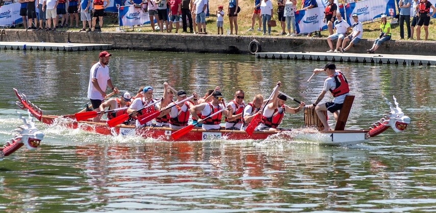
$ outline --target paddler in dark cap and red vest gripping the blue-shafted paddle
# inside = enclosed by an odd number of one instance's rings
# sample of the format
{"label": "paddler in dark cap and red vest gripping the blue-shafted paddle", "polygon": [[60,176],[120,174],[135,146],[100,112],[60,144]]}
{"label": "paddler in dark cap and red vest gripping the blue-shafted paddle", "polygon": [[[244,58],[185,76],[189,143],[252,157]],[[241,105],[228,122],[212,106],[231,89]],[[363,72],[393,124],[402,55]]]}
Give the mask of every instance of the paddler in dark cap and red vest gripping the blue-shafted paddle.
{"label": "paddler in dark cap and red vest gripping the blue-shafted paddle", "polygon": [[[211,102],[204,102],[198,105],[195,105],[191,109],[189,109],[189,112],[191,113],[192,117],[197,120],[197,123],[202,123],[201,126],[203,129],[210,130],[210,129],[220,129],[220,123],[222,115],[227,116],[228,118],[232,118],[232,113],[230,113],[231,106],[228,105],[227,109],[222,111],[221,113],[218,113],[217,115],[208,118],[206,120],[203,120],[204,118],[207,118],[208,116],[214,114],[215,112],[218,112],[222,109],[224,109],[224,106],[222,104],[225,104],[224,99],[222,98],[222,94],[220,91],[215,91],[212,93],[213,99]],[[200,111],[201,117],[199,118],[196,111]]]}

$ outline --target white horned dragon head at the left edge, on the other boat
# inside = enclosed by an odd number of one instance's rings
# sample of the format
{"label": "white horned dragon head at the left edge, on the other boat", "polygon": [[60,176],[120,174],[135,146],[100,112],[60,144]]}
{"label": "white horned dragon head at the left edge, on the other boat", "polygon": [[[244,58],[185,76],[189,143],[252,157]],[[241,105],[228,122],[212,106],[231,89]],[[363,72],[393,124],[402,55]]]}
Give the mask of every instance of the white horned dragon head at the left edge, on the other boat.
{"label": "white horned dragon head at the left edge, on the other boat", "polygon": [[17,143],[24,143],[24,145],[31,151],[38,148],[39,143],[44,138],[44,134],[38,130],[33,122],[33,117],[29,113],[29,123],[25,118],[21,115],[21,113],[17,112],[18,117],[23,120],[24,126],[17,126],[19,129],[15,130],[18,132],[18,136],[15,137],[15,141]]}

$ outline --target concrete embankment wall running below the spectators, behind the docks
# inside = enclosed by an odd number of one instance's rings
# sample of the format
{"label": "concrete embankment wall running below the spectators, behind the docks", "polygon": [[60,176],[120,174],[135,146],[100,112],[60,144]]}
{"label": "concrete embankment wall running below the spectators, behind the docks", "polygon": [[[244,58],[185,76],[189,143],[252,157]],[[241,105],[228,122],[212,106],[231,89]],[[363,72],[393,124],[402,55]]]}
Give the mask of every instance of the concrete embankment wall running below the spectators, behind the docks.
{"label": "concrete embankment wall running below the spectators, behind the docks", "polygon": [[[123,33],[123,32],[78,32],[78,31],[25,31],[1,30],[1,41],[56,42],[111,44],[112,49],[137,49],[156,51],[214,52],[227,54],[250,54],[249,44],[256,39],[260,52],[326,51],[326,38],[283,37],[283,36],[226,36],[174,33]],[[363,39],[350,53],[366,54],[373,39]],[[335,43],[336,44],[336,43]],[[379,54],[435,55],[436,42],[391,40],[377,50]]]}

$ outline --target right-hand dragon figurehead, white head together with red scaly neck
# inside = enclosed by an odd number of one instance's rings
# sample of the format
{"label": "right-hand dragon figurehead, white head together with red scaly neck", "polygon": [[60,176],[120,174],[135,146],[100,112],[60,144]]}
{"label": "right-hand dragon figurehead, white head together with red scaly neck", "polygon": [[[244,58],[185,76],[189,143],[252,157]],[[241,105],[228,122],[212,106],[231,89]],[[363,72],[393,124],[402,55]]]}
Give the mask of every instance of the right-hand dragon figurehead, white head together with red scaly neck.
{"label": "right-hand dragon figurehead, white head together with red scaly neck", "polygon": [[372,124],[374,128],[371,128],[371,130],[368,132],[369,137],[374,137],[389,127],[392,127],[395,132],[404,131],[404,129],[407,128],[407,124],[411,122],[411,118],[405,116],[401,108],[398,107],[398,102],[395,96],[393,96],[393,98],[395,107],[387,98],[383,97],[383,99],[386,100],[386,103],[389,105],[391,112],[386,111],[387,114],[383,114],[386,118],[380,119],[380,121],[377,122],[378,125],[375,123]]}

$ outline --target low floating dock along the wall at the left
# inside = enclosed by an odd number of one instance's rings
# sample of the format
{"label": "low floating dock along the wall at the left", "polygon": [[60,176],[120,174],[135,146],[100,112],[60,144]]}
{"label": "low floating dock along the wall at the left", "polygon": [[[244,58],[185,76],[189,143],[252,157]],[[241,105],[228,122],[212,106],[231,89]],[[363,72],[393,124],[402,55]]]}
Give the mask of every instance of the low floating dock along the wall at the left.
{"label": "low floating dock along the wall at the left", "polygon": [[110,44],[0,42],[0,50],[87,51],[111,49]]}

